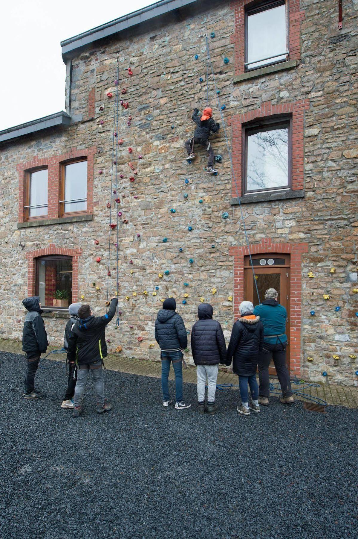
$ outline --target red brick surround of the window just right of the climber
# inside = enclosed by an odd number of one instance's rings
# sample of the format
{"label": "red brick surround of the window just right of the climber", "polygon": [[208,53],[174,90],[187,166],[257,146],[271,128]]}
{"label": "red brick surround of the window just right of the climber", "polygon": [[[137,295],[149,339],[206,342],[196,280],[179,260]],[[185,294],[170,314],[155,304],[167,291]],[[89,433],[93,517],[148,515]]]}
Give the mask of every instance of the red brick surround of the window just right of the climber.
{"label": "red brick surround of the window just right of the climber", "polygon": [[[235,114],[228,119],[228,125],[232,126],[232,163],[233,175],[231,192],[232,197],[242,196],[242,171],[245,160],[244,144],[242,136],[242,126],[262,118],[263,120],[269,116],[277,115],[292,115],[292,190],[303,189],[303,169],[304,169],[304,152],[303,152],[303,123],[304,111],[309,108],[309,100],[301,99],[293,103],[282,103],[282,105],[273,105],[272,101],[265,101],[261,108],[250,110],[244,114]],[[237,182],[235,184],[235,181]]]}

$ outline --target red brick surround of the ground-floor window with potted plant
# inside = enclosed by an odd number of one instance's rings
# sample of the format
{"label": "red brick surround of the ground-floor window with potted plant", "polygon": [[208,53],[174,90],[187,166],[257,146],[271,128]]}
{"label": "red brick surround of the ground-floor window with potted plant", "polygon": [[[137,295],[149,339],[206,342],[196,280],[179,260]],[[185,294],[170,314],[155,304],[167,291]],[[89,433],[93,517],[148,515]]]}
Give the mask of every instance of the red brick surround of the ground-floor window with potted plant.
{"label": "red brick surround of the ground-floor window with potted plant", "polygon": [[81,249],[68,249],[65,247],[56,247],[50,243],[48,247],[37,249],[26,254],[27,257],[27,295],[35,294],[35,266],[36,259],[47,257],[51,254],[63,254],[66,257],[72,257],[72,303],[78,301],[78,257],[82,254]]}

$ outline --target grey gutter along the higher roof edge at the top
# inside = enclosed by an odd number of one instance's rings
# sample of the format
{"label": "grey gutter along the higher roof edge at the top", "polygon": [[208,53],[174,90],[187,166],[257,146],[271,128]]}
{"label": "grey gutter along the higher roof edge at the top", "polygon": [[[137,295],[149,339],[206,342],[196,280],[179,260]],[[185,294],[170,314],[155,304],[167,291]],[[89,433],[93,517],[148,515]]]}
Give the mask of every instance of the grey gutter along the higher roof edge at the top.
{"label": "grey gutter along the higher roof edge at the top", "polygon": [[128,13],[128,15],[125,15],[124,17],[119,17],[118,19],[111,20],[109,23],[96,26],[95,28],[92,28],[92,30],[65,39],[61,41],[62,59],[66,64],[67,59],[75,56],[75,51],[85,45],[89,45],[98,39],[112,36],[114,33],[127,30],[132,26],[144,23],[149,19],[164,15],[164,13],[183,8],[185,5],[194,2],[197,2],[197,0],[161,0],[161,2],[156,2],[146,8]]}

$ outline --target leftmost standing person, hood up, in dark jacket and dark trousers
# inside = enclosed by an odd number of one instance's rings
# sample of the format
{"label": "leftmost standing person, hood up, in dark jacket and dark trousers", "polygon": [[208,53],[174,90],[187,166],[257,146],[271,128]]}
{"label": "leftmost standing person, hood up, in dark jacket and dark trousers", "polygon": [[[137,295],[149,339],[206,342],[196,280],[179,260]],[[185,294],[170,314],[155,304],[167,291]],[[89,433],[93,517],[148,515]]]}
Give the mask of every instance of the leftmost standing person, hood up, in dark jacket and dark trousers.
{"label": "leftmost standing person, hood up, in dark jacket and dark trousers", "polygon": [[41,303],[39,296],[33,296],[23,300],[23,306],[27,309],[27,314],[23,329],[23,350],[26,352],[27,369],[25,377],[25,399],[41,399],[43,393],[34,386],[35,374],[39,366],[40,356],[47,350],[47,334],[44,320],[41,314]]}

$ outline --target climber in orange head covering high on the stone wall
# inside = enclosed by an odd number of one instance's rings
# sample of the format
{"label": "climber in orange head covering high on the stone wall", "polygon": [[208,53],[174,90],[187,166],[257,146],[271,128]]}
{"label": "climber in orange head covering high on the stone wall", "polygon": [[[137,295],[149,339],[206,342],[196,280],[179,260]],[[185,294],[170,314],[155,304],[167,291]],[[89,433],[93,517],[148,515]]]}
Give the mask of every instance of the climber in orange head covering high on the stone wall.
{"label": "climber in orange head covering high on the stone wall", "polygon": [[212,119],[212,109],[209,107],[204,108],[202,116],[199,114],[198,108],[194,109],[191,118],[196,123],[197,128],[195,129],[194,136],[185,142],[185,149],[188,153],[187,161],[195,159],[194,144],[201,144],[209,153],[206,172],[214,174],[217,170],[214,168],[214,151],[209,142],[209,136],[211,132],[216,133],[219,130],[220,124],[215,123]]}

